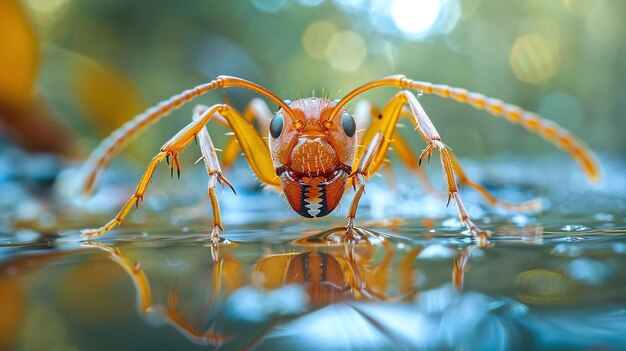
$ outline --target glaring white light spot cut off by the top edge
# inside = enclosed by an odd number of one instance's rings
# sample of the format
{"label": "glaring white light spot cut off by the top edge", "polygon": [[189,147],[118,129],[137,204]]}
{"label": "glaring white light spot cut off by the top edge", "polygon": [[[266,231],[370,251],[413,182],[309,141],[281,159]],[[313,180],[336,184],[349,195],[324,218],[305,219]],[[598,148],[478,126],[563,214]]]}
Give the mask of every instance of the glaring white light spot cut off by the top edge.
{"label": "glaring white light spot cut off by the top edge", "polygon": [[391,3],[391,17],[398,29],[422,34],[433,27],[441,7],[441,0],[395,0]]}

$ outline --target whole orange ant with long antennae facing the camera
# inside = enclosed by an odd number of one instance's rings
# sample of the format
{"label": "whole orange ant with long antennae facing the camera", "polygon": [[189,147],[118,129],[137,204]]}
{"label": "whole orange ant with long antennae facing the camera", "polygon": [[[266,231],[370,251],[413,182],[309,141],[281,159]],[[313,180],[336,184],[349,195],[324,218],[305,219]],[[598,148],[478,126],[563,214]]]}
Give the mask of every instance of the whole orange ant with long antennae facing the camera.
{"label": "whole orange ant with long antennae facing the camera", "polygon": [[[357,140],[355,119],[344,109],[346,103],[356,96],[373,88],[390,86],[400,90],[380,111],[371,118],[365,133]],[[518,106],[485,95],[468,92],[465,89],[446,85],[410,80],[402,75],[389,76],[366,83],[348,93],[341,100],[324,98],[303,98],[283,101],[267,89],[252,82],[229,76],[219,76],[215,80],[182,92],[148,109],[127,122],[91,154],[85,165],[86,181],[83,192],[94,185],[98,174],[109,164],[111,158],[129,140],[138,135],[148,125],[179,108],[186,102],[217,88],[241,87],[269,98],[280,107],[275,115],[260,100],[254,100],[242,115],[228,103],[211,107],[197,106],[193,121],[166,142],[154,156],[143,174],[135,193],[121,211],[111,221],[98,229],[84,230],[83,237],[101,235],[118,225],[133,205],[143,199],[154,170],[161,161],[171,158],[171,172],[176,168],[180,176],[178,154],[197,138],[206,171],[209,175],[208,193],[213,207],[212,238],[219,241],[219,231],[223,230],[219,204],[215,188],[217,184],[234,187],[224,177],[205,125],[213,120],[233,130],[234,135],[250,167],[263,183],[271,188],[282,189],[291,207],[303,217],[322,217],[332,212],[339,204],[346,184],[354,187],[356,194],[348,211],[346,234],[349,240],[358,238],[354,227],[357,205],[365,189],[365,181],[375,174],[383,164],[391,145],[405,163],[410,164],[415,157],[410,153],[406,142],[396,131],[401,117],[407,117],[426,142],[426,148],[418,159],[418,165],[431,153],[439,151],[441,166],[445,176],[448,204],[454,199],[463,224],[477,240],[485,242],[489,232],[480,229],[470,219],[458,193],[455,176],[462,185],[477,190],[491,205],[499,205],[512,210],[530,210],[537,202],[509,204],[495,199],[485,188],[471,181],[461,168],[452,151],[441,141],[439,133],[422,108],[417,97],[409,90],[436,94],[466,103],[477,109],[502,116],[509,122],[521,124],[527,130],[538,133],[574,158],[592,180],[599,178],[597,163],[591,151],[570,132],[538,115],[524,111]],[[405,106],[408,105],[408,109]],[[253,119],[269,122],[267,141],[253,126]]]}

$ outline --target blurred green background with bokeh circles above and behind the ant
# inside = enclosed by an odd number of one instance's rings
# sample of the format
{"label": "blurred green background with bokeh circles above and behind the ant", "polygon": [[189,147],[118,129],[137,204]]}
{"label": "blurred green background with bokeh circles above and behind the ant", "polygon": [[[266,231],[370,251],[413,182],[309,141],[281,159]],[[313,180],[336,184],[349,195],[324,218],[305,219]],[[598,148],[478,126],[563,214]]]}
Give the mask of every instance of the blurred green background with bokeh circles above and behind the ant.
{"label": "blurred green background with bokeh circles above and behind the ant", "polygon": [[[36,94],[69,122],[85,151],[134,114],[220,74],[294,99],[322,89],[339,98],[396,73],[518,104],[594,150],[626,149],[626,2],[620,0],[19,3],[41,43]],[[227,93],[240,109],[254,96]],[[364,98],[382,105],[393,93],[381,88]],[[197,103],[223,99],[214,92]],[[421,99],[458,155],[557,153],[503,119],[434,96]],[[156,152],[190,121],[191,107],[140,138],[135,152]],[[223,132],[213,136],[222,145]],[[420,150],[421,139],[412,139]]]}

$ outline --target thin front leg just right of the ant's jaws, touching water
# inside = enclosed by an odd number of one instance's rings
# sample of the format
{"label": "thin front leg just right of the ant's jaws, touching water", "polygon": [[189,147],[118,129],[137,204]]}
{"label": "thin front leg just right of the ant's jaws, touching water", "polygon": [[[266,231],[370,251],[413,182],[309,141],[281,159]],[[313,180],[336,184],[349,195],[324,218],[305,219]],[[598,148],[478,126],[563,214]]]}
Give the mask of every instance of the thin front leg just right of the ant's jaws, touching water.
{"label": "thin front leg just right of the ant's jaws, touching water", "polygon": [[[353,179],[353,187],[355,188],[356,194],[354,194],[354,198],[352,199],[352,204],[350,205],[350,211],[348,212],[348,224],[346,225],[346,239],[347,241],[354,241],[358,239],[365,239],[367,241],[367,237],[363,233],[354,228],[354,217],[356,217],[356,209],[359,206],[359,200],[361,199],[361,195],[365,191],[365,180],[370,176],[370,170],[372,165],[374,164],[374,155],[379,151],[381,147],[383,147],[383,134],[381,132],[376,133],[372,141],[370,142],[367,150],[359,160],[359,164],[354,172],[350,174],[350,177]],[[358,235],[357,235],[358,234]]]}

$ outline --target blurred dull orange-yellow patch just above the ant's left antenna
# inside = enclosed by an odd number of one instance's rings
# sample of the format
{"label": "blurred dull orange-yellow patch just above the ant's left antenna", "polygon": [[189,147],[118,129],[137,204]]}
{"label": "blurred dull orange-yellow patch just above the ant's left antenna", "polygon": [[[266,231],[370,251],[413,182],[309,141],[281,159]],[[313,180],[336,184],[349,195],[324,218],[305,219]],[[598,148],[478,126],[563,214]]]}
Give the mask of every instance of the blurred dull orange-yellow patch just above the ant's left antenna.
{"label": "blurred dull orange-yellow patch just above the ant's left antenna", "polygon": [[144,105],[132,81],[111,66],[81,60],[74,72],[73,86],[101,136],[109,135],[143,112]]}

